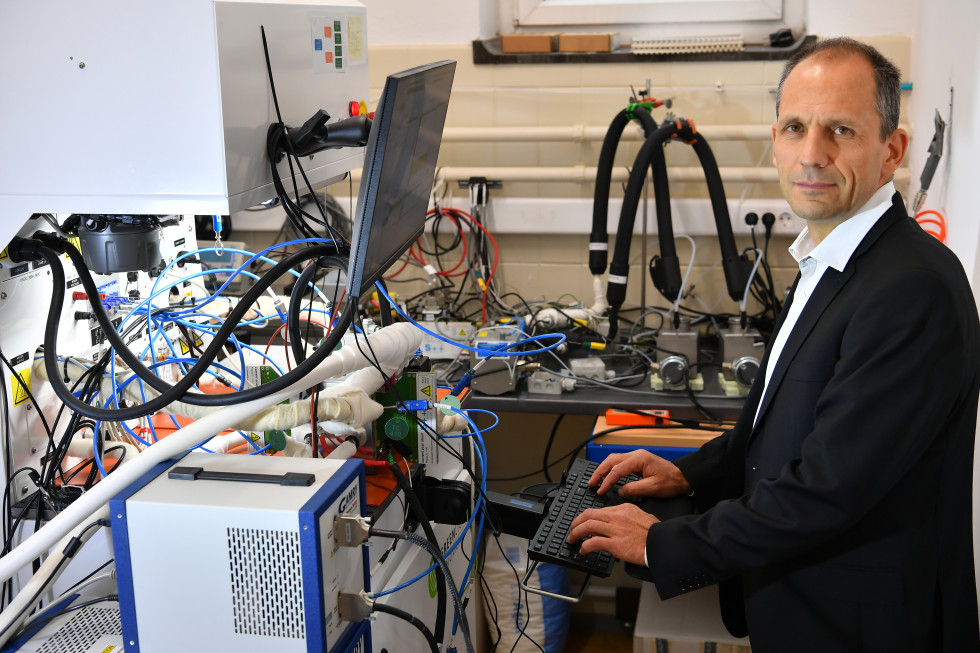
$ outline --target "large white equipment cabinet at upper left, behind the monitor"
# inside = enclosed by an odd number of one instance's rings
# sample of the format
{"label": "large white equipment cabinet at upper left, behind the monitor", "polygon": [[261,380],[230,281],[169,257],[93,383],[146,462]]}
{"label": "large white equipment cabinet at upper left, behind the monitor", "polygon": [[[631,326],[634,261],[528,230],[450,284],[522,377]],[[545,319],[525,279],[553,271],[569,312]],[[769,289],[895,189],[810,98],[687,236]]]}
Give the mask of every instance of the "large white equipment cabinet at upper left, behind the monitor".
{"label": "large white equipment cabinet at upper left, behind the monitor", "polygon": [[[227,215],[275,197],[263,28],[286,125],[370,103],[367,13],[356,0],[0,3],[0,223]],[[343,148],[302,163],[318,188],[363,159],[363,148]],[[279,172],[291,189],[285,161]],[[296,181],[305,189],[298,171]]]}

